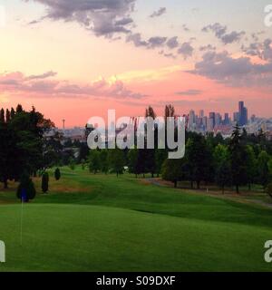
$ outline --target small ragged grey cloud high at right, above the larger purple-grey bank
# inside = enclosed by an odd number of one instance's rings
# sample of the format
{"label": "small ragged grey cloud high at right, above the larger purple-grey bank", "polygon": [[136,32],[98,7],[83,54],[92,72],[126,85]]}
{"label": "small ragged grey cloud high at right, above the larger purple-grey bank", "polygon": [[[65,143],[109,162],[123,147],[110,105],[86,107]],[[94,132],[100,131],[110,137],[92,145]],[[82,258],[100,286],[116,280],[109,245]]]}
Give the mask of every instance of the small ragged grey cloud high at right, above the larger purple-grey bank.
{"label": "small ragged grey cloud high at right, above the larger purple-grey bank", "polygon": [[202,32],[213,32],[216,37],[225,44],[238,42],[246,34],[244,31],[233,31],[231,33],[227,33],[227,26],[221,25],[219,23],[209,24],[208,26],[203,27]]}

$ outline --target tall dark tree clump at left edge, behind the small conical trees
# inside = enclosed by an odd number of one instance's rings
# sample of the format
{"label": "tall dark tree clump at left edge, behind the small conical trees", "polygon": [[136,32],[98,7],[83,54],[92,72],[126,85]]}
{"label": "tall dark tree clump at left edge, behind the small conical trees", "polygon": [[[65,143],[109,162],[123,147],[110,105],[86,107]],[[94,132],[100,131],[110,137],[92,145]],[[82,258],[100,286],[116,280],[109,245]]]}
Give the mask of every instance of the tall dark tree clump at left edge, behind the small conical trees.
{"label": "tall dark tree clump at left edge, behind the small conical trees", "polygon": [[[44,169],[46,147],[44,133],[53,128],[53,122],[36,111],[24,111],[21,105],[0,110],[0,181],[8,187],[8,180],[18,181],[25,189],[33,187],[31,176]],[[23,189],[18,189],[20,192]],[[34,195],[34,190],[32,195]]]}

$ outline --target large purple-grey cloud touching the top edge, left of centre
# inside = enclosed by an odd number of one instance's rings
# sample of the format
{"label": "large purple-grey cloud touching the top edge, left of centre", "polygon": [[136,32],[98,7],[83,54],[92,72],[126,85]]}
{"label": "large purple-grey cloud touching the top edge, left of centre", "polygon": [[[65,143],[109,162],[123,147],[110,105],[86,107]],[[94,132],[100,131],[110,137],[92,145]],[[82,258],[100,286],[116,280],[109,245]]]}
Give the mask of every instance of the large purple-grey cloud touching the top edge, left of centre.
{"label": "large purple-grey cloud touching the top edge, left of centre", "polygon": [[[49,18],[75,21],[98,36],[112,37],[113,34],[128,34],[128,25],[136,0],[24,0],[38,2],[47,7],[47,14],[40,20]],[[37,23],[34,20],[32,24]]]}

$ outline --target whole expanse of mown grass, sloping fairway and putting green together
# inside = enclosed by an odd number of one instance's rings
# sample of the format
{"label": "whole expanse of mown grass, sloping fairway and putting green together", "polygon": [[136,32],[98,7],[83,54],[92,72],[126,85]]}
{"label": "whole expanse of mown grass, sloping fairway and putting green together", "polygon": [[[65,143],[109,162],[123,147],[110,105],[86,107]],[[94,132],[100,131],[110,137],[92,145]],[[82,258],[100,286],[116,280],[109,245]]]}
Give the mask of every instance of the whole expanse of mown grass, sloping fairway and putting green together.
{"label": "whole expanse of mown grass, sloping fairway and putting green together", "polygon": [[[188,194],[131,176],[62,169],[21,206],[0,192],[0,271],[272,271],[272,210]],[[37,189],[40,180],[36,180]]]}

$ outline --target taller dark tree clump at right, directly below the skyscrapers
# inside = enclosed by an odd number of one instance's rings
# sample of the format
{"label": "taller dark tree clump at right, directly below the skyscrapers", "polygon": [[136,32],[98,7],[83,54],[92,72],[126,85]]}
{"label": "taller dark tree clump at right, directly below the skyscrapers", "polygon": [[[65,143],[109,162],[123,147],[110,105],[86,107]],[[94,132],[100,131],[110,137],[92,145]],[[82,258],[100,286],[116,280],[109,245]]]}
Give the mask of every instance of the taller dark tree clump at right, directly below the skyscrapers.
{"label": "taller dark tree clump at right, directly below the skyscrapers", "polygon": [[162,165],[162,178],[174,182],[189,180],[191,188],[196,182],[216,183],[224,192],[226,187],[254,183],[267,187],[272,179],[272,159],[267,150],[249,144],[245,131],[236,126],[229,140],[210,142],[200,134],[190,134],[186,143],[185,158],[165,160]]}

